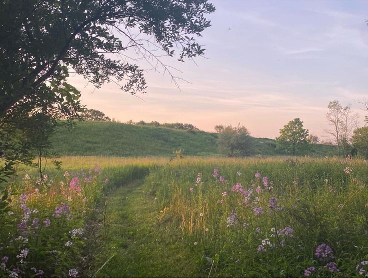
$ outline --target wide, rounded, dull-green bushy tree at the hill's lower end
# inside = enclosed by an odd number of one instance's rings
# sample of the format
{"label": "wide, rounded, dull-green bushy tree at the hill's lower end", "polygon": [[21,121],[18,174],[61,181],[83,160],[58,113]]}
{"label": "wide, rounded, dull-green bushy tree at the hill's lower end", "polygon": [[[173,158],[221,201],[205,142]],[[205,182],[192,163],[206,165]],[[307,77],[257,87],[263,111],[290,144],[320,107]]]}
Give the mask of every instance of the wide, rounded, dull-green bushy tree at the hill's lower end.
{"label": "wide, rounded, dull-green bushy tree at the hill's lower end", "polygon": [[250,133],[244,126],[224,126],[218,134],[218,149],[227,156],[248,156],[251,153],[250,145]]}

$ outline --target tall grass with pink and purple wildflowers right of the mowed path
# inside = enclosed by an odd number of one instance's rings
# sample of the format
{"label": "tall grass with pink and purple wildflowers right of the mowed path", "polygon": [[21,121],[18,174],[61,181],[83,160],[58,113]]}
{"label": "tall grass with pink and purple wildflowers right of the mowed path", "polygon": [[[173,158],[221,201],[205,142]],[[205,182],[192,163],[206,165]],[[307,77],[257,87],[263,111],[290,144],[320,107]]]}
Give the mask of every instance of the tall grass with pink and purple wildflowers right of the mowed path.
{"label": "tall grass with pink and purple wildflowers right of the mowed path", "polygon": [[[191,159],[151,172],[146,186],[156,191],[158,221],[181,231],[183,243],[201,255],[201,275],[303,276],[314,267],[311,276],[353,276],[368,258],[367,166]],[[333,254],[318,257],[322,243]]]}

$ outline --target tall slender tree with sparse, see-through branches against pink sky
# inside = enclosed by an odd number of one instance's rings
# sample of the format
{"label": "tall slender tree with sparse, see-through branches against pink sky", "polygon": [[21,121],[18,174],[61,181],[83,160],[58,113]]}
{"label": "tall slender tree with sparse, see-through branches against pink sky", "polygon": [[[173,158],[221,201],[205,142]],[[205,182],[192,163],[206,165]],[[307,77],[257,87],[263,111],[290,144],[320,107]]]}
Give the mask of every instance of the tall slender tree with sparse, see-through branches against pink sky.
{"label": "tall slender tree with sparse, see-through branches against pink sky", "polygon": [[344,107],[341,106],[337,100],[330,101],[328,103],[329,111],[326,114],[328,123],[332,126],[331,129],[326,129],[325,132],[331,135],[337,145],[338,155],[340,155],[341,148],[342,154],[345,155],[351,133],[356,126],[357,114],[353,114],[353,110],[350,105]]}

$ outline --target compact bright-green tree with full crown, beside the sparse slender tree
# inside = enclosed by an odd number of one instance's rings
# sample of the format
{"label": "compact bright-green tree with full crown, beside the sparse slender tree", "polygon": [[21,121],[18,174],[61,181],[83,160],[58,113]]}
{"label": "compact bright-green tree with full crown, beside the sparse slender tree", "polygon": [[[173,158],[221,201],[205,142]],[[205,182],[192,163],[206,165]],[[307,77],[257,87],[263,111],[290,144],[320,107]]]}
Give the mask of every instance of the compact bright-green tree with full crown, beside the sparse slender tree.
{"label": "compact bright-green tree with full crown, beside the sparse slender tree", "polygon": [[295,118],[280,129],[280,136],[276,137],[277,148],[295,155],[308,145],[308,135],[309,131],[303,128],[303,122]]}

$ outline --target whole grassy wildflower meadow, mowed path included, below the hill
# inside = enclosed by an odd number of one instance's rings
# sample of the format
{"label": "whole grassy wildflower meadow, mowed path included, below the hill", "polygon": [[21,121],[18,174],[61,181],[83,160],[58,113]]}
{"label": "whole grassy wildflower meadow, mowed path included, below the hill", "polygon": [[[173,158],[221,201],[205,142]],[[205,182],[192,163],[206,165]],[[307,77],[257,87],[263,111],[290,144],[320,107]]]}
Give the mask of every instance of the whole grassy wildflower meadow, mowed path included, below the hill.
{"label": "whole grassy wildflower meadow, mowed path included, below the hill", "polygon": [[[0,217],[0,252],[7,257],[0,276],[11,269],[19,276],[41,269],[46,276],[97,277],[367,273],[366,161],[60,160],[62,170],[46,169],[46,185],[26,167],[11,181],[12,213]],[[79,228],[83,234],[73,237]]]}

